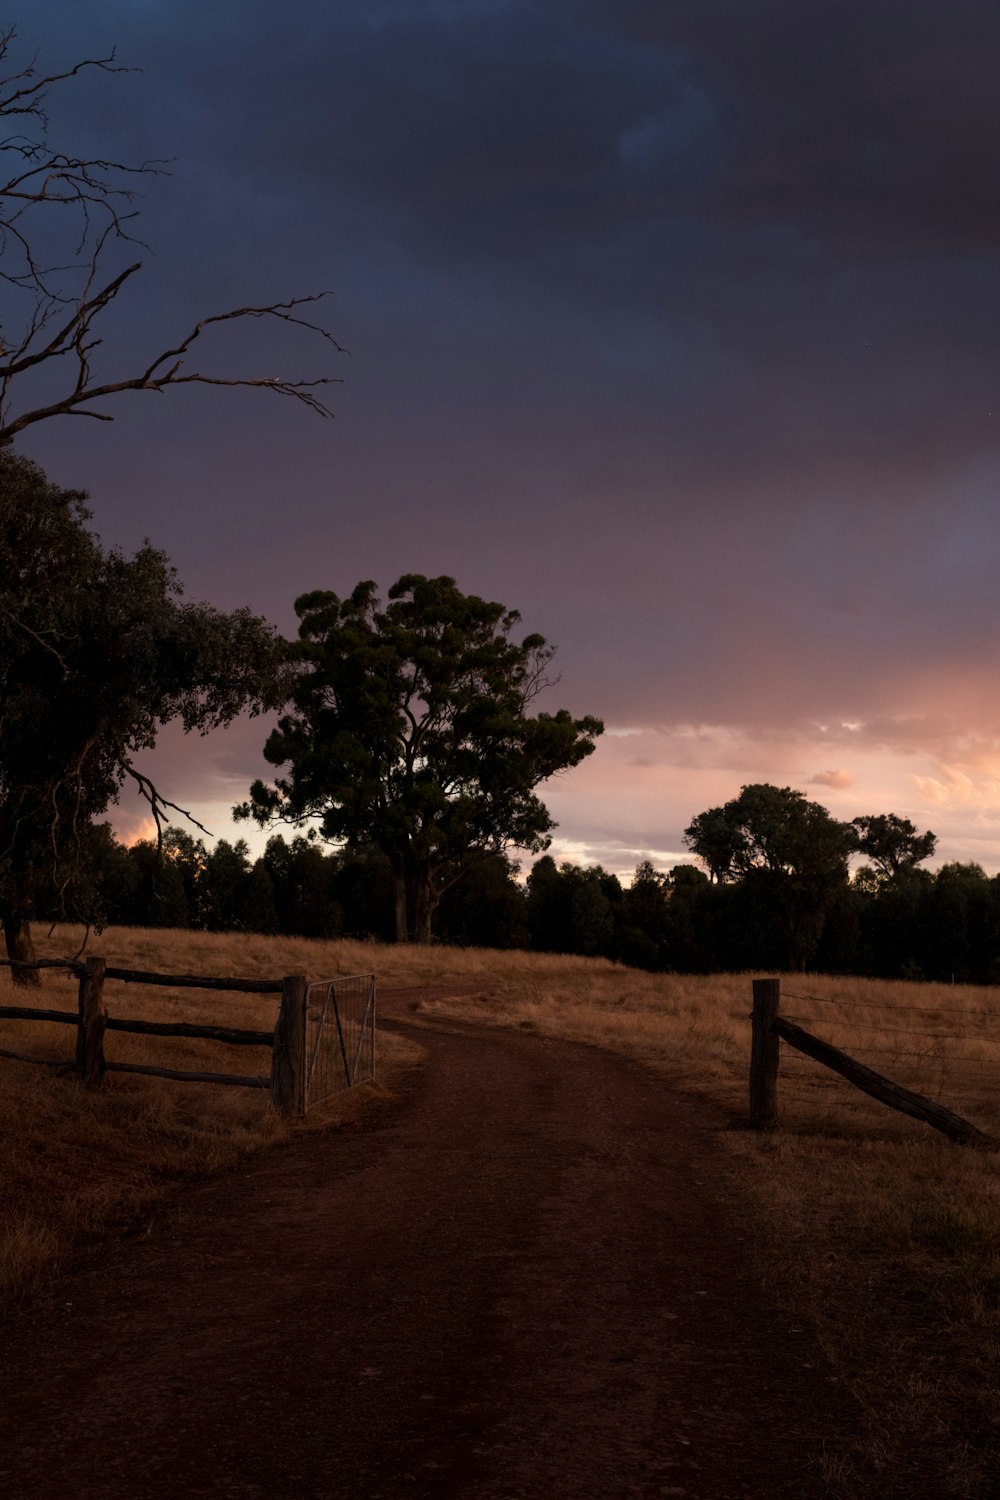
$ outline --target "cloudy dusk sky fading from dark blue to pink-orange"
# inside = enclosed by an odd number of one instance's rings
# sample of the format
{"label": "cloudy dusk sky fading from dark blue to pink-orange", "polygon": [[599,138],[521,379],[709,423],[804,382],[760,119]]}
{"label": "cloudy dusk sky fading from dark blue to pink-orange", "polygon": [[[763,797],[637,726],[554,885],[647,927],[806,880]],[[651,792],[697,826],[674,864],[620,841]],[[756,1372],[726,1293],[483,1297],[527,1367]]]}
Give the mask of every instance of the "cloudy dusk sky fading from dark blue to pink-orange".
{"label": "cloudy dusk sky fading from dark blue to pink-orange", "polygon": [[[15,18],[16,20],[16,18]],[[1000,10],[982,0],[34,0],[52,142],[138,162],[111,376],[196,318],[330,291],[27,429],[186,592],[283,632],[313,588],[450,574],[604,718],[540,792],[628,876],[751,782],[1000,870]],[[133,248],[129,248],[133,249]],[[193,363],[193,362],[192,362]],[[265,728],[141,762],[217,837]],[[144,830],[126,789],[115,825]]]}

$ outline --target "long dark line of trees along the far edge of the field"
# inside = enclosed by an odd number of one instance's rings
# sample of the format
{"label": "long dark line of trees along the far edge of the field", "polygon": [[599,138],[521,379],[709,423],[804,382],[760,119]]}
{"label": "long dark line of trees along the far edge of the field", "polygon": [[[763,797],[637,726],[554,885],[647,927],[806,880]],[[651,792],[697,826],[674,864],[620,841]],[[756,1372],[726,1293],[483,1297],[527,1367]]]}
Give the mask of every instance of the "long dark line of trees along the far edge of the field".
{"label": "long dark line of trees along the far edge of the field", "polygon": [[[735,804],[744,812],[748,806],[783,812],[786,838],[793,836],[795,812],[802,812],[807,830],[820,814],[829,818],[787,788],[745,788]],[[709,826],[720,832],[717,818],[693,820],[687,834],[693,852]],[[520,880],[508,855],[483,854],[442,896],[433,938],[604,957],[654,972],[808,968],[1000,982],[1000,876],[987,876],[978,864],[921,868],[934,836],[895,814],[858,818],[838,830],[835,879],[829,867],[796,870],[787,862],[790,848],[774,843],[769,864],[744,846],[742,868],[733,860],[715,870],[685,862],[660,872],[643,861],[630,884],[600,866],[558,864],[550,855]],[[853,874],[847,852],[867,860]],[[264,854],[252,858],[243,840],[207,849],[180,828],[166,831],[160,849],[154,840],[124,848],[102,824],[90,834],[88,867],[94,909],[115,924],[396,938],[393,870],[373,844],[325,850],[301,834],[291,840],[273,834]],[[810,888],[810,882],[817,884]],[[54,902],[49,892],[39,915],[55,915]]]}

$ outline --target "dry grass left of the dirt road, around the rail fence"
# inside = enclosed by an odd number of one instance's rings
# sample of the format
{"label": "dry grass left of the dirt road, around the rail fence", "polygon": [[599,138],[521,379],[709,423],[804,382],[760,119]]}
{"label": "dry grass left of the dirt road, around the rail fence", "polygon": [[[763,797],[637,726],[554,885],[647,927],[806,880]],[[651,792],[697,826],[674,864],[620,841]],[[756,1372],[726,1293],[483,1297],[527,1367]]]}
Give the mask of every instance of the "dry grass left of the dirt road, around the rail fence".
{"label": "dry grass left of the dirt road, around the rail fence", "polygon": [[[37,956],[66,957],[79,936],[67,928],[36,932]],[[111,964],[166,974],[328,978],[343,972],[330,945],[204,933],[120,928],[102,933],[90,951]],[[370,954],[363,968],[372,969]],[[9,970],[0,969],[0,1004],[75,1011],[76,980],[58,970],[42,975],[40,990],[15,990]],[[109,980],[105,1005],[120,1017],[267,1030],[279,996]],[[0,1048],[27,1056],[69,1062],[75,1035],[55,1022],[0,1020]],[[297,1130],[349,1122],[369,1100],[385,1095],[396,1070],[420,1052],[400,1038],[381,1036],[378,1046],[379,1084],[330,1101]],[[270,1070],[265,1048],[127,1032],[105,1035],[105,1056],[208,1072],[265,1076]],[[0,1058],[0,1310],[43,1290],[55,1272],[108,1236],[141,1232],[171,1184],[226,1172],[288,1134],[264,1089],[111,1072],[102,1089],[87,1090],[69,1071]]]}

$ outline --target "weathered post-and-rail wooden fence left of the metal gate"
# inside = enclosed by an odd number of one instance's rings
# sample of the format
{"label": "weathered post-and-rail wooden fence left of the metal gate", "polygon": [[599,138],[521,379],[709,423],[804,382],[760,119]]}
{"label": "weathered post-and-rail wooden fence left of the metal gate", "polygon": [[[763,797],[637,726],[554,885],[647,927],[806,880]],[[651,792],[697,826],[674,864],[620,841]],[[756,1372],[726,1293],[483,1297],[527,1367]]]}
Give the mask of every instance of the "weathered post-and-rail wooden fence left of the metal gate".
{"label": "weathered post-and-rail wooden fence left of the metal gate", "polygon": [[[301,974],[283,980],[234,980],[196,974],[148,974],[142,969],[118,969],[103,958],[40,958],[18,963],[0,958],[9,969],[63,969],[79,976],[75,1011],[40,1010],[27,1005],[0,1005],[0,1018],[24,1022],[55,1022],[76,1028],[76,1053],[70,1059],[31,1058],[0,1047],[0,1058],[39,1062],[73,1070],[87,1088],[99,1088],[106,1072],[142,1072],[156,1078],[178,1078],[186,1083],[222,1083],[235,1088],[268,1089],[274,1107],[285,1116],[306,1113],[306,1011],[309,981]],[[273,1030],[246,1030],[235,1026],[199,1026],[190,1022],[145,1022],[108,1016],[103,1005],[105,980],[126,984],[160,984],[171,988],[235,990],[244,994],[280,994],[280,1008]],[[372,981],[373,982],[373,981]],[[267,1076],[234,1072],[192,1072],[177,1068],[154,1068],[148,1064],[108,1062],[103,1054],[105,1032],[138,1032],[145,1036],[198,1036],[235,1047],[270,1048]]]}

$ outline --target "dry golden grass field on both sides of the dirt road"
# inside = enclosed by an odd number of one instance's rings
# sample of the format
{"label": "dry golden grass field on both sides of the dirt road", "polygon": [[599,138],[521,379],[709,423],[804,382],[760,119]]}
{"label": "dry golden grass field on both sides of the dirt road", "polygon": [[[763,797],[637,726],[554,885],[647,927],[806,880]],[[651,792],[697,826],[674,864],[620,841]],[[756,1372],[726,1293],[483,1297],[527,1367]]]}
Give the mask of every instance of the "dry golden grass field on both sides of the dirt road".
{"label": "dry golden grass field on both sides of the dirt road", "polygon": [[[66,954],[76,934],[36,938]],[[609,1047],[702,1095],[724,1148],[733,1209],[763,1280],[808,1317],[867,1412],[864,1448],[889,1470],[934,1476],[942,1496],[996,1500],[1000,1472],[1000,1173],[783,1047],[781,1128],[744,1128],[747,975],[649,975],[604,960],[448,948],[382,948],[207,933],[111,930],[109,963],[165,972],[310,978],[375,969],[382,986],[451,990],[424,1010]],[[9,978],[0,978],[9,1000]],[[267,1028],[276,998],[108,982],[111,1014]],[[25,992],[18,992],[22,1002]],[[27,1004],[72,1008],[48,974]],[[810,975],[783,981],[783,1012],[1000,1137],[1000,992]],[[69,1053],[70,1028],[0,1022],[0,1047]],[[108,1058],[246,1072],[211,1042],[108,1034]],[[381,1042],[381,1076],[415,1048]],[[259,1066],[267,1068],[267,1054]],[[165,1185],[225,1170],[285,1126],[252,1090],[109,1076],[99,1092],[57,1070],[0,1059],[0,1239],[7,1298],[42,1287],[102,1236],[141,1222]],[[324,1119],[349,1125],[370,1090]],[[915,1467],[916,1466],[916,1467]],[[844,1491],[850,1494],[850,1490]]]}

